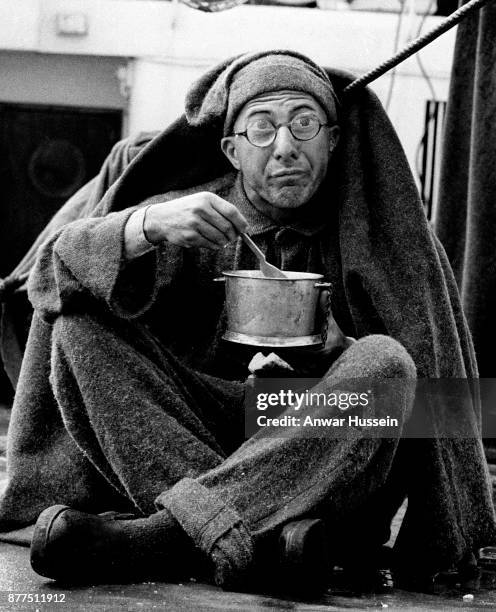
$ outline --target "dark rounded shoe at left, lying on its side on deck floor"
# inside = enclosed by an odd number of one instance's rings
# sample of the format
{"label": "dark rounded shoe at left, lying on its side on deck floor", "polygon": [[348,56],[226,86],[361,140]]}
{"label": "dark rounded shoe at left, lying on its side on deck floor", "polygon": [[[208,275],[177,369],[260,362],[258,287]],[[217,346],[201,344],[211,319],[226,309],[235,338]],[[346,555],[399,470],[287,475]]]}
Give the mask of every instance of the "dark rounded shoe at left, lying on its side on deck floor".
{"label": "dark rounded shoe at left, lying on its side on deck floor", "polygon": [[88,514],[60,505],[47,508],[35,525],[31,567],[41,576],[70,583],[184,578],[179,552],[185,551],[176,544],[183,545],[186,536],[178,530],[179,537],[173,534],[170,538],[169,550],[163,546],[154,550],[139,528],[136,535],[130,529],[143,519],[129,518],[117,513]]}

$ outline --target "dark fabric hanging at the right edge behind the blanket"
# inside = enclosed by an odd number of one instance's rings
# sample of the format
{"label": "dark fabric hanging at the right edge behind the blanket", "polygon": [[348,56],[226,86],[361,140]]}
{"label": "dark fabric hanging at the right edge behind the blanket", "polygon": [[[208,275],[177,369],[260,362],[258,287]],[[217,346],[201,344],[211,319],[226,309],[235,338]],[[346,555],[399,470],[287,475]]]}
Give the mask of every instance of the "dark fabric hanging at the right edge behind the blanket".
{"label": "dark fabric hanging at the right edge behind the blanket", "polygon": [[494,3],[458,26],[434,219],[460,288],[480,375],[491,378],[496,376],[495,41]]}

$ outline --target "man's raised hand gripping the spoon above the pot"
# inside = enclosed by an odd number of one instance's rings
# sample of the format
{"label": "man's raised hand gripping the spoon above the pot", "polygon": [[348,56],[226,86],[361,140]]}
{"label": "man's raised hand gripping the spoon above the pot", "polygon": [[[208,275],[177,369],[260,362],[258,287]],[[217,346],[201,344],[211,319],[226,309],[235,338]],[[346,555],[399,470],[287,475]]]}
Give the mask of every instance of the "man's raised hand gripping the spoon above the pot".
{"label": "man's raised hand gripping the spoon above the pot", "polygon": [[247,229],[233,204],[208,191],[153,204],[144,222],[153,244],[167,241],[186,248],[221,249]]}

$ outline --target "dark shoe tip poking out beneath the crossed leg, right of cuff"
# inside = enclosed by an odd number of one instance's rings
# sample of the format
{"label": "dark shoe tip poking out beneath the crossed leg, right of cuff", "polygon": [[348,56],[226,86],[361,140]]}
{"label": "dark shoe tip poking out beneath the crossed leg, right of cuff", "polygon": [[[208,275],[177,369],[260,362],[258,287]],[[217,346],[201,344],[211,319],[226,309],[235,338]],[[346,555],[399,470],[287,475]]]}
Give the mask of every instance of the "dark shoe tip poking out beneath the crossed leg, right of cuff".
{"label": "dark shoe tip poking out beneath the crossed leg, right of cuff", "polygon": [[279,536],[279,562],[281,587],[288,594],[323,593],[332,572],[324,522],[304,519],[285,525]]}

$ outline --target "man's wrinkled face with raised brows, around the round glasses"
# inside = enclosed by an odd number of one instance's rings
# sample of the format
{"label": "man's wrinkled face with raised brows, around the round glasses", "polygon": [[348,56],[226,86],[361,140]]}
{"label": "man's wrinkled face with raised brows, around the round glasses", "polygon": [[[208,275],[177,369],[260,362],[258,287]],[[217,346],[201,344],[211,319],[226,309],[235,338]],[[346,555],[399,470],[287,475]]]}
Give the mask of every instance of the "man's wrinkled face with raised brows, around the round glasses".
{"label": "man's wrinkled face with raised brows, around the round glasses", "polygon": [[[315,116],[328,123],[320,104],[310,95],[295,91],[267,93],[250,100],[240,111],[233,133],[244,132],[253,122],[265,126],[289,123],[298,115]],[[222,150],[243,176],[250,201],[276,220],[306,204],[327,172],[338,139],[337,126],[322,127],[311,140],[297,140],[287,126],[280,127],[272,144],[257,147],[245,136],[227,136]]]}

